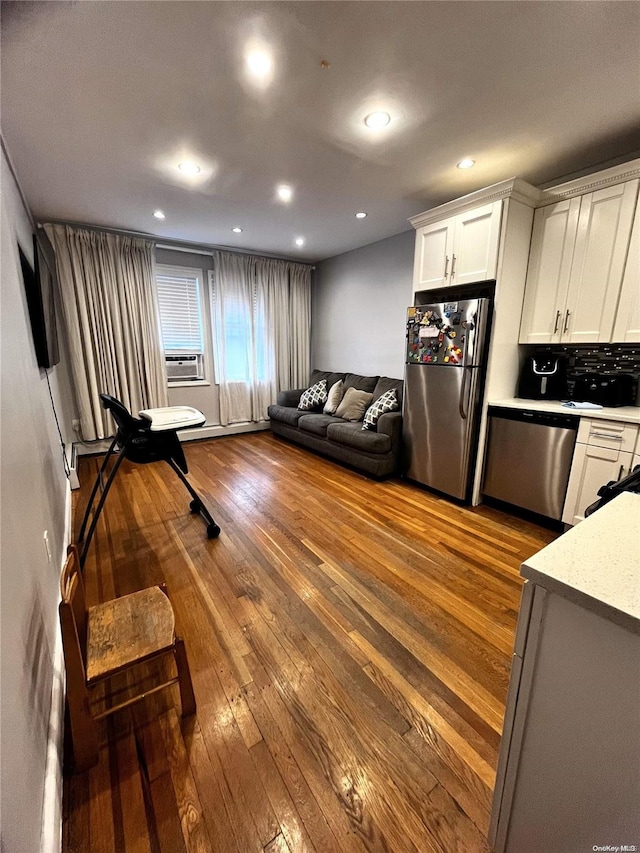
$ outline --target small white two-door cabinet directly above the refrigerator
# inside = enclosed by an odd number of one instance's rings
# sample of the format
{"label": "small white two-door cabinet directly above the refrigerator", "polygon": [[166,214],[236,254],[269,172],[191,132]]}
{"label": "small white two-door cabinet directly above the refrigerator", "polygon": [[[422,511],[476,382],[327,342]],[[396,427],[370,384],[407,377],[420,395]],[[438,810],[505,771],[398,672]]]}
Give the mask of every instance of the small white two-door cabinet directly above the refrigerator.
{"label": "small white two-door cabinet directly above the refrigerator", "polygon": [[501,209],[496,201],[419,228],[414,291],[495,278]]}

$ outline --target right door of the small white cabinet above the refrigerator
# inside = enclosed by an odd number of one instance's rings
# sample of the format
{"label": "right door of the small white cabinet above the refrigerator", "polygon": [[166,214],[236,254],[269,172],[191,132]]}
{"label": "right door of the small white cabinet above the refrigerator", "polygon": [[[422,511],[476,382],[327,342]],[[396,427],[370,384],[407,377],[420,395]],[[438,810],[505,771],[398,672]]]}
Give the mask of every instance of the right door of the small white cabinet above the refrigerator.
{"label": "right door of the small white cabinet above the refrigerator", "polygon": [[451,284],[495,278],[502,202],[485,204],[456,216]]}

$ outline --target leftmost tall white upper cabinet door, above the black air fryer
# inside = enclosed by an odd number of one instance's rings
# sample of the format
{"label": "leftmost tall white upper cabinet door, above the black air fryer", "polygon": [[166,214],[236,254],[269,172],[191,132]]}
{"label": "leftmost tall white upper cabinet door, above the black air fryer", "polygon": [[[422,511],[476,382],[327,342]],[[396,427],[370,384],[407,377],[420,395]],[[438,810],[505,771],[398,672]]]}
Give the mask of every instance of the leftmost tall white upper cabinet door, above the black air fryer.
{"label": "leftmost tall white upper cabinet door, above the black air fryer", "polygon": [[535,212],[520,324],[521,344],[550,344],[560,340],[579,211],[580,199],[572,198]]}

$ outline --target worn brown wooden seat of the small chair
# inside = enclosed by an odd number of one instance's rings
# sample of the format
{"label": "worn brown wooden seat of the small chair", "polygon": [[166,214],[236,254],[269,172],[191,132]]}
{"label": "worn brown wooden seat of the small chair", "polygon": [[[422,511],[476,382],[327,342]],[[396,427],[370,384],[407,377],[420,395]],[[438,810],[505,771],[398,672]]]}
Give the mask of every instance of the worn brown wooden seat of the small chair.
{"label": "worn brown wooden seat of the small chair", "polygon": [[175,619],[158,586],[96,604],[87,611],[87,681],[171,648]]}

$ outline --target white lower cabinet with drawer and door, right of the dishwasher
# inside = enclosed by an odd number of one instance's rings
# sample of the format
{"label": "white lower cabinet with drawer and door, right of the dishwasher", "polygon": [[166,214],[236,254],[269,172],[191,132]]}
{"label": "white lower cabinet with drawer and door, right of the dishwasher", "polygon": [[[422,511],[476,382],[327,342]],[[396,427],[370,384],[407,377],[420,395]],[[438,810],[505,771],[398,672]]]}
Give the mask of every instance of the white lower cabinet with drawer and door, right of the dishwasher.
{"label": "white lower cabinet with drawer and door, right of the dishwasher", "polygon": [[626,476],[634,463],[638,427],[617,421],[580,419],[578,440],[571,463],[562,520],[575,525],[584,519],[586,508],[599,489],[611,480]]}

